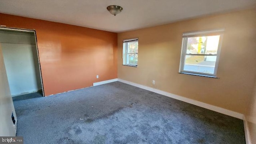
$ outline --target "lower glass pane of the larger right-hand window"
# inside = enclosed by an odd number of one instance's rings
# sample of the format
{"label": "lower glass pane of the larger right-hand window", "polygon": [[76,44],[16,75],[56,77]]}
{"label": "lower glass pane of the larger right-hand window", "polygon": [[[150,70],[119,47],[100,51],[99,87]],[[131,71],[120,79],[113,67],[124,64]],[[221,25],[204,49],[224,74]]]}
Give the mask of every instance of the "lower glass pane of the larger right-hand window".
{"label": "lower glass pane of the larger right-hand window", "polygon": [[186,55],[184,71],[214,74],[217,56]]}

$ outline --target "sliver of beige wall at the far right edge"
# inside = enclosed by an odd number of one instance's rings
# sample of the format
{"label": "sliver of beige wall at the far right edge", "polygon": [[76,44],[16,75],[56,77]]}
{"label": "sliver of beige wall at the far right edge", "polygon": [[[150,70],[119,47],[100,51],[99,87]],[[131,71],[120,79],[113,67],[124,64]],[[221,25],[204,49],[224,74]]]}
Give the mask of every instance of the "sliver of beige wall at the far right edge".
{"label": "sliver of beige wall at the far right edge", "polygon": [[248,120],[248,129],[250,133],[251,144],[256,144],[256,81],[254,85],[254,93],[250,101],[248,114],[246,120]]}

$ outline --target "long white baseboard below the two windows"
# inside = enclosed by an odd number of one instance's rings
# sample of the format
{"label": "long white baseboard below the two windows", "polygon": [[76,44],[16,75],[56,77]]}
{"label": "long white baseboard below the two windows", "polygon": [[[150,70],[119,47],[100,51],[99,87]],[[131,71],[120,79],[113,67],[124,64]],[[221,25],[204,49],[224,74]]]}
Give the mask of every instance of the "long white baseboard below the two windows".
{"label": "long white baseboard below the two windows", "polygon": [[213,110],[213,111],[216,111],[216,112],[220,112],[222,114],[226,114],[228,116],[232,116],[232,117],[235,117],[235,118],[239,118],[239,119],[242,119],[244,120],[244,114],[241,114],[241,113],[238,113],[238,112],[234,112],[232,110],[227,110],[225,108],[220,108],[220,107],[216,107],[214,105],[210,105],[210,104],[207,104],[207,103],[202,103],[200,101],[196,101],[196,100],[193,100],[193,99],[189,99],[189,98],[186,98],[186,97],[182,97],[182,96],[179,96],[179,95],[174,95],[172,93],[168,93],[168,92],[165,92],[165,91],[161,91],[161,90],[158,90],[158,89],[154,89],[152,87],[147,87],[147,86],[144,86],[144,85],[140,85],[140,84],[137,84],[137,83],[132,83],[130,81],[125,81],[123,79],[118,79],[118,81],[122,82],[122,83],[126,83],[128,85],[133,85],[135,87],[139,87],[141,89],[146,89],[148,91],[152,91],[154,93],[158,93],[160,95],[165,95],[167,97],[171,97],[173,99],[177,99],[177,100],[180,100],[180,101],[184,101],[186,103],[190,103],[192,105],[196,105],[196,106],[199,106],[199,107],[203,107],[203,108],[206,108],[206,109],[209,109],[209,110]]}

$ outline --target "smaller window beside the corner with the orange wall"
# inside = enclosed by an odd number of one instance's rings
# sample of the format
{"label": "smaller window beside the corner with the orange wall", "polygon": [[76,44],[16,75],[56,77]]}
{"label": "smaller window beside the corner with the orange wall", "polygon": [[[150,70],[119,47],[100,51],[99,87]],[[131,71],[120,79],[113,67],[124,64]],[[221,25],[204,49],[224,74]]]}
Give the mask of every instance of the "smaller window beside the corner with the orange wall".
{"label": "smaller window beside the corner with the orange wall", "polygon": [[138,66],[138,38],[123,40],[123,65]]}

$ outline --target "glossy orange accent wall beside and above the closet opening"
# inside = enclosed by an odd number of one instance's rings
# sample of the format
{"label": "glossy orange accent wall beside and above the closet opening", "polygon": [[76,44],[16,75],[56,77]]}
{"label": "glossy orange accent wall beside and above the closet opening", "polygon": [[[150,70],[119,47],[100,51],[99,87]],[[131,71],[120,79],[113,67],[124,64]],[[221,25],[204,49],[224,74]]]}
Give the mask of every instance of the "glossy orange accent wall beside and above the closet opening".
{"label": "glossy orange accent wall beside and above the closet opening", "polygon": [[0,25],[36,30],[45,96],[117,78],[116,33],[8,14]]}

